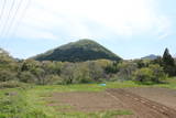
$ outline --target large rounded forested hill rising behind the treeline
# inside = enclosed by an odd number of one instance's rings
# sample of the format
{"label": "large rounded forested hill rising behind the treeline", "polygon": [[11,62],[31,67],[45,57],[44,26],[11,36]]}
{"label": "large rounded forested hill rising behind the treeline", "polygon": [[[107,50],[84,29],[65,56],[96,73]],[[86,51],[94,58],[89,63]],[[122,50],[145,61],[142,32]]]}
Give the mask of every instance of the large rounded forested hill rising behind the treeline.
{"label": "large rounded forested hill rising behind the treeline", "polygon": [[36,61],[82,62],[99,58],[119,61],[111,51],[91,40],[79,40],[32,57]]}

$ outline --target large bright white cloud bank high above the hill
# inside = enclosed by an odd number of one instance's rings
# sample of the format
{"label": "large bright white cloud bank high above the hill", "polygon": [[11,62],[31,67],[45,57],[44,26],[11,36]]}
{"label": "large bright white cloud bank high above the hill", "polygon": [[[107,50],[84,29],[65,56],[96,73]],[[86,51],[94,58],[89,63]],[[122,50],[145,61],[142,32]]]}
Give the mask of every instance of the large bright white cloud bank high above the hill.
{"label": "large bright white cloud bank high above the hill", "polygon": [[169,20],[157,14],[154,7],[153,0],[33,0],[16,35],[53,40],[59,36],[59,32],[53,33],[59,28],[70,37],[91,37],[97,34],[85,23],[91,20],[117,35],[154,29],[163,39],[168,34]]}

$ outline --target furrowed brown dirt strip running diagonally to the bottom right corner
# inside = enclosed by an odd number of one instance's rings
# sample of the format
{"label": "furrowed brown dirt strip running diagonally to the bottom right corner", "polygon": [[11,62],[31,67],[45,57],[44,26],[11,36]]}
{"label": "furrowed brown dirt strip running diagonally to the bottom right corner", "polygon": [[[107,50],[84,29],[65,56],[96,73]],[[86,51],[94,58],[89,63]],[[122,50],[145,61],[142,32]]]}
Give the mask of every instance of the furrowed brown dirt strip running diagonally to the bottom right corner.
{"label": "furrowed brown dirt strip running diagonally to the bottom right corner", "polygon": [[[135,118],[176,118],[176,110],[124,89],[107,89],[112,98],[135,112]],[[174,104],[174,103],[173,103]]]}

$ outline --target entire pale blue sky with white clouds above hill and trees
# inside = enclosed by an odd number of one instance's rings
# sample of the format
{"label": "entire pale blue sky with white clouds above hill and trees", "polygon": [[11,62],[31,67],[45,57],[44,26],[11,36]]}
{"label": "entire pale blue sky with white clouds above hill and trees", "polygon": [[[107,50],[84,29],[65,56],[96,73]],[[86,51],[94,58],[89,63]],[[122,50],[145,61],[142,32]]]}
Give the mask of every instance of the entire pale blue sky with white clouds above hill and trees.
{"label": "entire pale blue sky with white clouds above hill and trees", "polygon": [[[6,2],[6,4],[3,4]],[[28,58],[91,39],[122,58],[176,54],[175,0],[0,0],[0,47]]]}

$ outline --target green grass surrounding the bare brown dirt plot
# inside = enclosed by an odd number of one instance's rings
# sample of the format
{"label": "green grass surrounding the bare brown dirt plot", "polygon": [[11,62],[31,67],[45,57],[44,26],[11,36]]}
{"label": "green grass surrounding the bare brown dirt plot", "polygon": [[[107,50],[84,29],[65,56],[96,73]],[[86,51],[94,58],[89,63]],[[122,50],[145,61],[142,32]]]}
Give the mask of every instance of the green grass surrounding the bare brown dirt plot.
{"label": "green grass surrounding the bare brown dirt plot", "polygon": [[109,82],[107,86],[99,84],[48,85],[31,88],[0,89],[0,118],[111,118],[118,115],[131,115],[128,110],[108,110],[96,112],[59,111],[70,106],[47,106],[46,100],[55,92],[101,92],[107,88],[124,87],[166,87],[176,88],[176,79],[167,79],[167,84],[139,85],[134,82]]}

